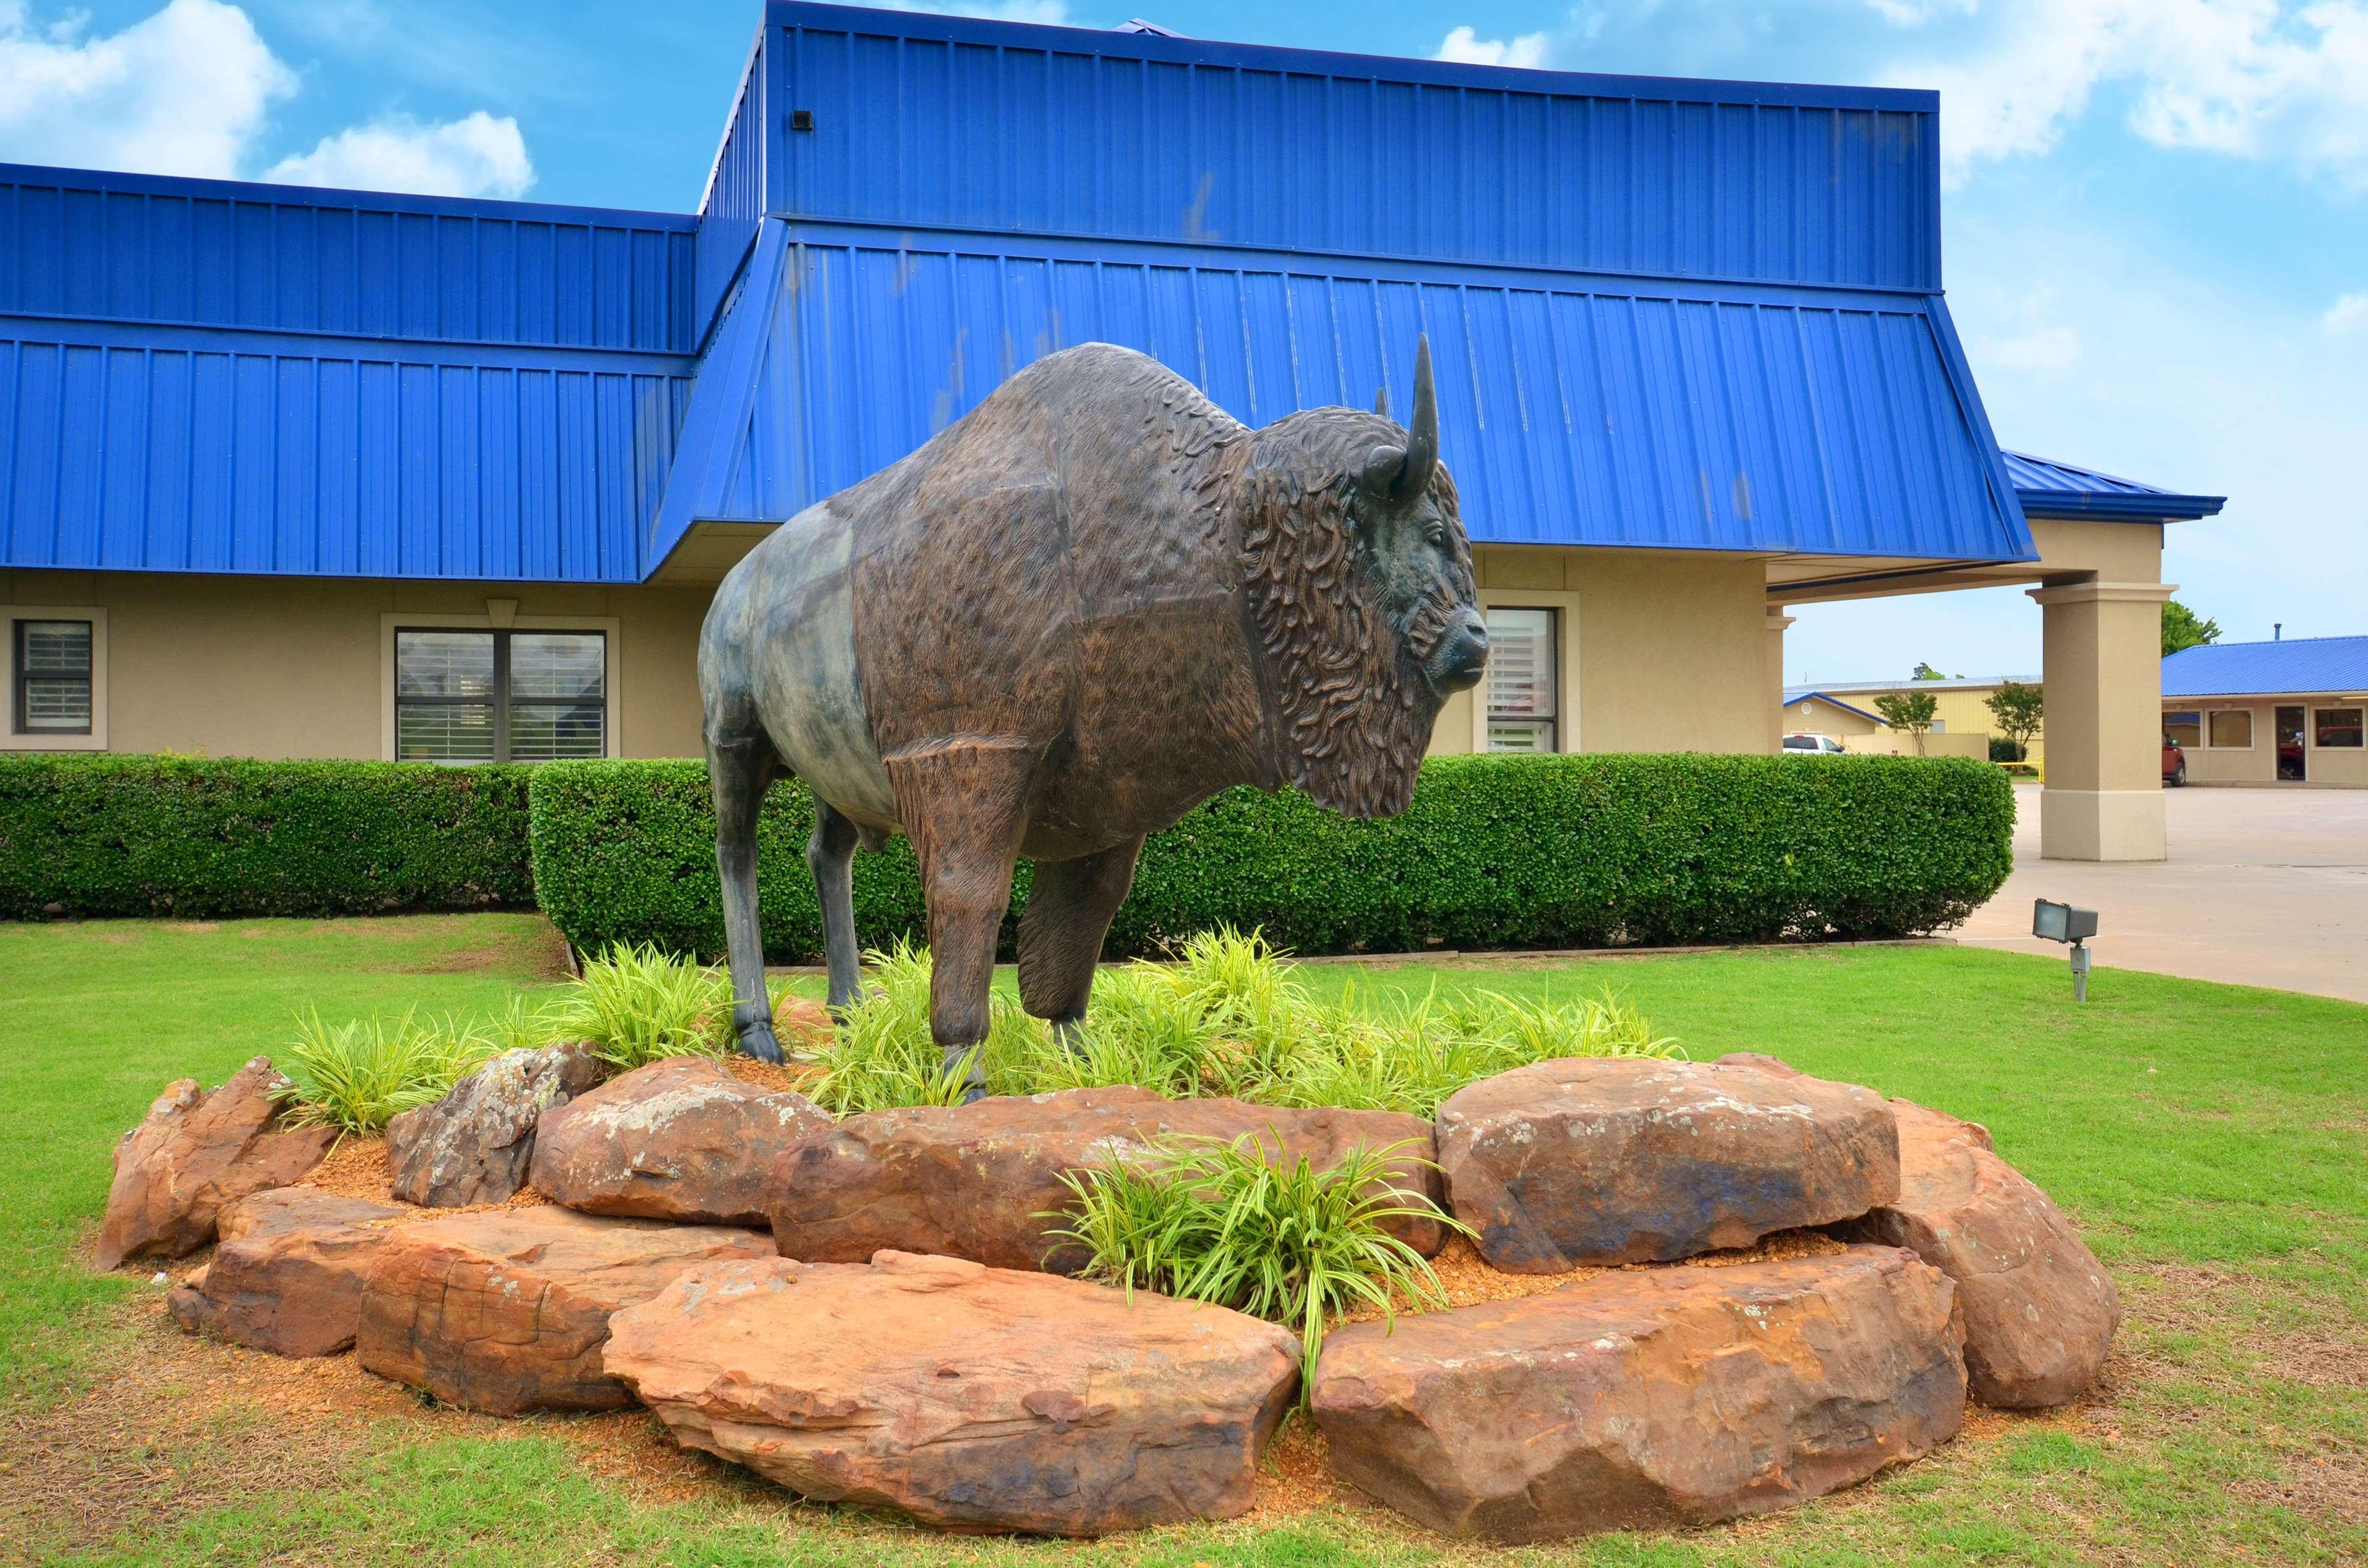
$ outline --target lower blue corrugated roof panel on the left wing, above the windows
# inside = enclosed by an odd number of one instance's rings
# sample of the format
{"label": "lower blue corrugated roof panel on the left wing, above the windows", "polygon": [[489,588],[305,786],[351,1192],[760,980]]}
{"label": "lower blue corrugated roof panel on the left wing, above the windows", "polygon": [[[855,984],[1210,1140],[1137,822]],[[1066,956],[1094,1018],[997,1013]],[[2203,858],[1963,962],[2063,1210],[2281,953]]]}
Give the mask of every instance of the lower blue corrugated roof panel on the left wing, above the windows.
{"label": "lower blue corrugated roof panel on the left wing, above the windows", "polygon": [[687,372],[0,317],[0,564],[637,583]]}

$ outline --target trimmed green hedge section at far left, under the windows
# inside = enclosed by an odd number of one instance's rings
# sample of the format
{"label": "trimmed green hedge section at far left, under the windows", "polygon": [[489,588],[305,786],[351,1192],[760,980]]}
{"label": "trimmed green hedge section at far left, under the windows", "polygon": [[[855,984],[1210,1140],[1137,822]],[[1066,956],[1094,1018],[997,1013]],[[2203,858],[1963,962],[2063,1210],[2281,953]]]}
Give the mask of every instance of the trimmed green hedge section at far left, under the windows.
{"label": "trimmed green hedge section at far left, under the windows", "polygon": [[0,917],[526,907],[530,772],[0,756]]}

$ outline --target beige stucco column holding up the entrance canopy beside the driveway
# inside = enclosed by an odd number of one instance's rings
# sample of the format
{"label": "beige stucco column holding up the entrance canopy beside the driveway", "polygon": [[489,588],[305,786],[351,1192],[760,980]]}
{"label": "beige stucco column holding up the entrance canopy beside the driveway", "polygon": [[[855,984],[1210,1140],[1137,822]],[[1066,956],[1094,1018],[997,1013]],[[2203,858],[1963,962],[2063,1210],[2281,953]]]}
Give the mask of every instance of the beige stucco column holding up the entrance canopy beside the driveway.
{"label": "beige stucco column holding up the entrance canopy beside the driveway", "polygon": [[2162,860],[2162,602],[2171,583],[2029,590],[2046,611],[2039,853]]}

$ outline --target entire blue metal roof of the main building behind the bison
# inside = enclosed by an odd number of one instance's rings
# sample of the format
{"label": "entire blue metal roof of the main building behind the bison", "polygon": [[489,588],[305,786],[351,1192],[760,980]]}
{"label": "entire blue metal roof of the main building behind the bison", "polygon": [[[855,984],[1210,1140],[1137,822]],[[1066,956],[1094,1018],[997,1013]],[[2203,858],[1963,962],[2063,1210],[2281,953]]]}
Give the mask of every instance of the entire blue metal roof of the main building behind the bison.
{"label": "entire blue metal roof of the main building behind the bison", "polygon": [[1056,348],[1265,424],[1418,334],[1480,542],[2032,559],[1935,121],[777,0],[696,216],[0,166],[0,566],[639,583]]}

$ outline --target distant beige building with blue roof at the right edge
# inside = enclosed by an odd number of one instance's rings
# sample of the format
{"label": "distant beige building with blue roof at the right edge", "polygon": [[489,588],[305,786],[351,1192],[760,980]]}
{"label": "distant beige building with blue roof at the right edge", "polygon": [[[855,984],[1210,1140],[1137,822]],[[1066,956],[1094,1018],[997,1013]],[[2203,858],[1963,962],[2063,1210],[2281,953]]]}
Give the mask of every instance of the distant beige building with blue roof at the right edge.
{"label": "distant beige building with blue roof at the right edge", "polygon": [[2368,637],[2212,642],[2162,661],[2190,784],[2368,784]]}

